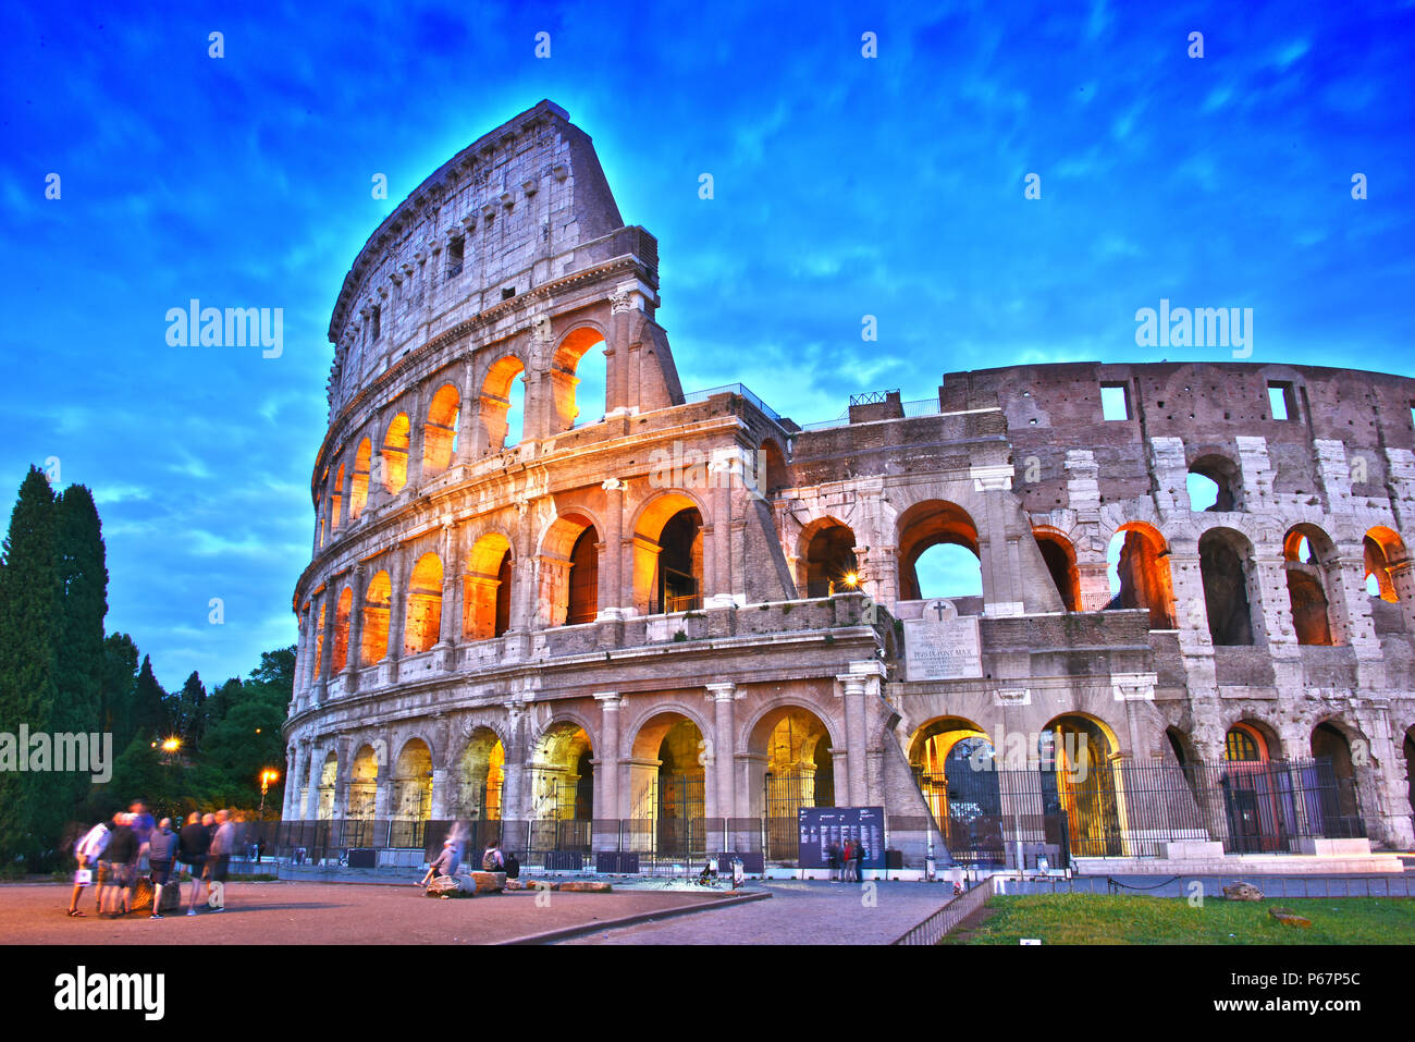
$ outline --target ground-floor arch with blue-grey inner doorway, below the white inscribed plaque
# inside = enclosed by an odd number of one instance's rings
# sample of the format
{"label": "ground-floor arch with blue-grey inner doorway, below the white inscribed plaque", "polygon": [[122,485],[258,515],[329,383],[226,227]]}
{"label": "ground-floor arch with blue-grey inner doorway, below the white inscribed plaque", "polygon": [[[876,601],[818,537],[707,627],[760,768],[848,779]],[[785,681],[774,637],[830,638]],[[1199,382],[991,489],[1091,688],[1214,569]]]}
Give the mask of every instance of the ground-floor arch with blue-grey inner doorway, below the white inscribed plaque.
{"label": "ground-floor arch with blue-grey inner doorway, below the white inscribed plaque", "polygon": [[986,732],[958,716],[930,721],[910,740],[908,766],[954,861],[1005,864],[1003,765]]}

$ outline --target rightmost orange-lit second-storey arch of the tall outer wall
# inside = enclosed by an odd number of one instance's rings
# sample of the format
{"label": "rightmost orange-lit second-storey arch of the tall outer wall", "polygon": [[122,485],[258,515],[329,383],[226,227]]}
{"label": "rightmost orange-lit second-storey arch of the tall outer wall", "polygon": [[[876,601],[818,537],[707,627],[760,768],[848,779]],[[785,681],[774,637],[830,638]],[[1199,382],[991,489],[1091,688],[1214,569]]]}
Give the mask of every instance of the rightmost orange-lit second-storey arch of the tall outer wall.
{"label": "rightmost orange-lit second-storey arch of the tall outer wall", "polygon": [[655,498],[634,531],[634,602],[644,614],[695,612],[703,595],[703,520],[681,493]]}

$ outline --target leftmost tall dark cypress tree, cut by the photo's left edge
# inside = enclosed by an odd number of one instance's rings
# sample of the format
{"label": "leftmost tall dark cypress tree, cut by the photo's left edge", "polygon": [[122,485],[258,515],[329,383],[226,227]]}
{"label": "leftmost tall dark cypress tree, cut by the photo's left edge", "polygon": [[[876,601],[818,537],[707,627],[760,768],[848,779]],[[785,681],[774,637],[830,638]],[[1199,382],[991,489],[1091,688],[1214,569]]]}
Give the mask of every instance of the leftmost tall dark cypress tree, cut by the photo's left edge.
{"label": "leftmost tall dark cypress tree, cut by the photo's left edge", "polygon": [[[20,486],[0,568],[0,731],[52,731],[58,640],[62,630],[57,511],[44,473],[30,467]],[[18,755],[28,750],[18,749]],[[0,772],[0,852],[37,866],[57,837],[48,772]],[[47,808],[45,804],[50,804]]]}

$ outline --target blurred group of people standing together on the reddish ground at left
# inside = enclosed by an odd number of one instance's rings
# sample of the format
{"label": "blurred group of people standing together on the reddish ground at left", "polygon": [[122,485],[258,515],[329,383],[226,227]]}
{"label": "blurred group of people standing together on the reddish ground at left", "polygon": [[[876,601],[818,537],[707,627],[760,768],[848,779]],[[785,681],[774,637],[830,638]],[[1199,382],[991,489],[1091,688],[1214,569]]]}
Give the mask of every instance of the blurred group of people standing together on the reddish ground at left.
{"label": "blurred group of people standing together on the reddish ground at left", "polygon": [[[177,823],[181,825],[180,820]],[[173,830],[173,820],[156,821],[140,800],[127,811],[119,811],[112,821],[100,821],[74,847],[78,871],[74,874],[74,896],[69,916],[83,917],[79,896],[85,888],[95,888],[98,916],[117,919],[133,910],[133,895],[142,878],[146,859],[147,879],[153,888],[151,919],[164,919],[163,888],[175,886],[174,871],[191,876],[191,898],[187,915],[197,915],[197,905],[205,902],[212,912],[226,906],[226,874],[231,854],[239,849],[238,815],[226,810],[214,814],[192,811],[187,824]],[[178,892],[178,906],[181,905]]]}

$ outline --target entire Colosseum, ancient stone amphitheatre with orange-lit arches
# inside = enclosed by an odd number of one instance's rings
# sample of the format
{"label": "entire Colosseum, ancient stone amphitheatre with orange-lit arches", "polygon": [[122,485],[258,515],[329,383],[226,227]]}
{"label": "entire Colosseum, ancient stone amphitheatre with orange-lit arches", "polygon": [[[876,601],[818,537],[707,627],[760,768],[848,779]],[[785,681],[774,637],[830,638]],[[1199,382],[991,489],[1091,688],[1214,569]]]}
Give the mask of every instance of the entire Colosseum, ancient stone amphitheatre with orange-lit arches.
{"label": "entire Colosseum, ancient stone amphitheatre with orange-lit arches", "polygon": [[1415,379],[1007,367],[802,426],[685,394],[658,289],[550,102],[354,259],[287,842],[409,864],[464,820],[531,865],[770,871],[869,820],[903,872],[1398,868]]}

